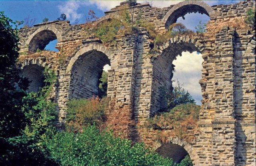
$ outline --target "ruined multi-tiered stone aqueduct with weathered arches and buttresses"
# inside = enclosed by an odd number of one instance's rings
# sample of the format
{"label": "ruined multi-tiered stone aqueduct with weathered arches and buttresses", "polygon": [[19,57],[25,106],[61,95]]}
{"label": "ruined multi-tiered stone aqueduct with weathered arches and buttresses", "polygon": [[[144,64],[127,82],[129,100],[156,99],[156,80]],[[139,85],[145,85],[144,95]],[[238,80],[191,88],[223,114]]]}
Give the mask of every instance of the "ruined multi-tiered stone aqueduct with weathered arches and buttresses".
{"label": "ruined multi-tiered stone aqueduct with weathered arches and buttresses", "polygon": [[[39,53],[20,60],[21,75],[32,80],[30,91],[42,85],[42,70],[53,68],[58,75],[52,98],[58,103],[59,120],[65,121],[68,99],[97,94],[98,79],[103,66],[109,64],[108,96],[120,107],[131,105],[136,122],[154,115],[162,107],[160,87],[171,88],[172,61],[182,51],[198,51],[202,63],[202,107],[196,139],[191,142],[170,138],[169,144],[157,149],[160,154],[175,158],[170,150],[190,154],[195,166],[255,166],[256,165],[256,39],[254,32],[241,27],[246,11],[255,8],[255,1],[208,6],[202,1],[183,1],[167,8],[152,8],[149,4],[120,6],[105,12],[94,22],[121,20],[122,8],[130,14],[142,13],[146,21],[155,24],[159,33],[188,12],[210,17],[208,32],[203,36],[178,36],[159,47],[158,56],[149,56],[148,32],[116,38],[116,44],[104,45],[100,40],[84,38],[81,25],[68,21],[53,21],[22,29],[20,52],[31,55],[57,39],[58,59],[51,53]],[[240,24],[240,25],[239,25]],[[235,28],[234,28],[235,27]],[[62,53],[66,56],[62,57]],[[181,148],[180,148],[181,147]],[[176,159],[178,161],[179,159]]]}

